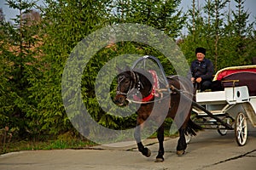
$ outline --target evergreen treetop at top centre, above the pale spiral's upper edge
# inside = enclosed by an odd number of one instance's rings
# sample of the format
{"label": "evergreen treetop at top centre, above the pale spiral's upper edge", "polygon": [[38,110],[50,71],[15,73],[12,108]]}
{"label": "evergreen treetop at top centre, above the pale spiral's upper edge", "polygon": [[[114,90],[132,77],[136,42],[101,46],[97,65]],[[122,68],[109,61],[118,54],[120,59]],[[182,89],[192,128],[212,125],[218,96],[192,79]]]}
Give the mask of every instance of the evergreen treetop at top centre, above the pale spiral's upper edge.
{"label": "evergreen treetop at top centre, above the pale spiral's upper edge", "polygon": [[164,31],[166,35],[176,38],[185,24],[181,1],[164,0],[117,0],[117,22],[139,23]]}

